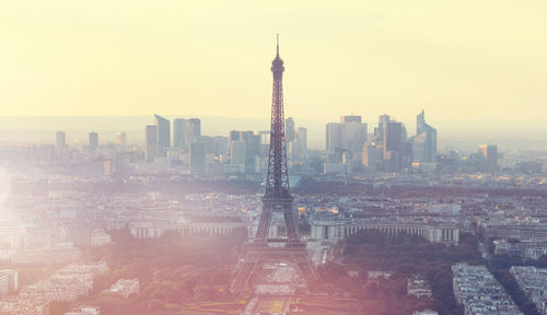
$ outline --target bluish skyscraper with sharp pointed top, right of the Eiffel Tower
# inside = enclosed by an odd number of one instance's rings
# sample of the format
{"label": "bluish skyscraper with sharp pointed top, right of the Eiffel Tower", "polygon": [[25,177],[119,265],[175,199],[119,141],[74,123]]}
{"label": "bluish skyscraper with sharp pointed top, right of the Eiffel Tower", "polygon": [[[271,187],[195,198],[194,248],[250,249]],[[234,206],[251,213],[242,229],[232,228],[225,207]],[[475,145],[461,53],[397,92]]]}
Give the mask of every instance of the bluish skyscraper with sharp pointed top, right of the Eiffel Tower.
{"label": "bluish skyscraper with sharp pointed top, right of the Eiffel Tower", "polygon": [[424,112],[416,116],[416,136],[412,137],[412,160],[437,162],[437,130],[426,124]]}

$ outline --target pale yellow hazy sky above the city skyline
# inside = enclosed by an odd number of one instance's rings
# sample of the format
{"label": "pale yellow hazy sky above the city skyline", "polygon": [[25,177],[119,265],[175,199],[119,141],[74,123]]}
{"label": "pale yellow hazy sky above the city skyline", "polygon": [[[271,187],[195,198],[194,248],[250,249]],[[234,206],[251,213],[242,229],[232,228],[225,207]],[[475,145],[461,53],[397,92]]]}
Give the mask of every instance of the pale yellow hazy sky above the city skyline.
{"label": "pale yellow hazy sky above the city skyline", "polygon": [[545,0],[0,2],[0,116],[547,120]]}

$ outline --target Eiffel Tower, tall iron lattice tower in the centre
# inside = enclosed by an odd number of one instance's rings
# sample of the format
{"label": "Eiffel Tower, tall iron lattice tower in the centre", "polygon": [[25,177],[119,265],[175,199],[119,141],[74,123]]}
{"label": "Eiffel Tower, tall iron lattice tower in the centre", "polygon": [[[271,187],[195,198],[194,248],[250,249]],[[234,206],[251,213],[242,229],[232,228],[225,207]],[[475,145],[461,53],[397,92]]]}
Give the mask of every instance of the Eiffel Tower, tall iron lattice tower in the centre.
{"label": "Eiffel Tower, tall iron lattice tower in the centre", "polygon": [[[279,57],[279,35],[277,56],[271,62],[274,73],[274,95],[271,100],[270,151],[266,192],[258,229],[252,243],[246,244],[244,259],[238,265],[232,282],[232,291],[243,291],[249,280],[266,264],[284,262],[294,268],[305,281],[307,289],[316,282],[317,276],[307,257],[306,244],[300,240],[296,219],[292,208],[287,167],[287,148],[283,115],[283,60]],[[269,238],[269,228],[274,213],[281,213],[287,229],[287,238]],[[271,246],[275,245],[275,246]]]}

